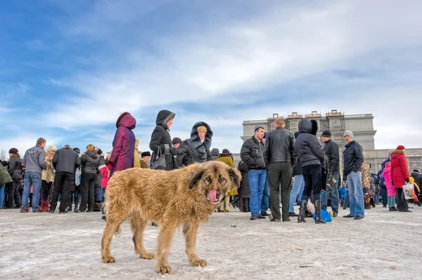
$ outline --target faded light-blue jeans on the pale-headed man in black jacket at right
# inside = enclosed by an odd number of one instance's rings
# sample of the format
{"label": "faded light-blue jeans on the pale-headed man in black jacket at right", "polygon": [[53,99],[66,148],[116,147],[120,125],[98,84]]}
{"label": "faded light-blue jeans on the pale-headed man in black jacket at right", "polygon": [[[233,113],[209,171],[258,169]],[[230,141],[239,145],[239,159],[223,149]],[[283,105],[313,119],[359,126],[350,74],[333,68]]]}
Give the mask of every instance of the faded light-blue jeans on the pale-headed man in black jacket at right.
{"label": "faded light-blue jeans on the pale-headed man in black jacket at right", "polygon": [[365,217],[364,190],[362,189],[361,171],[347,175],[347,187],[349,189],[349,206],[352,217]]}

